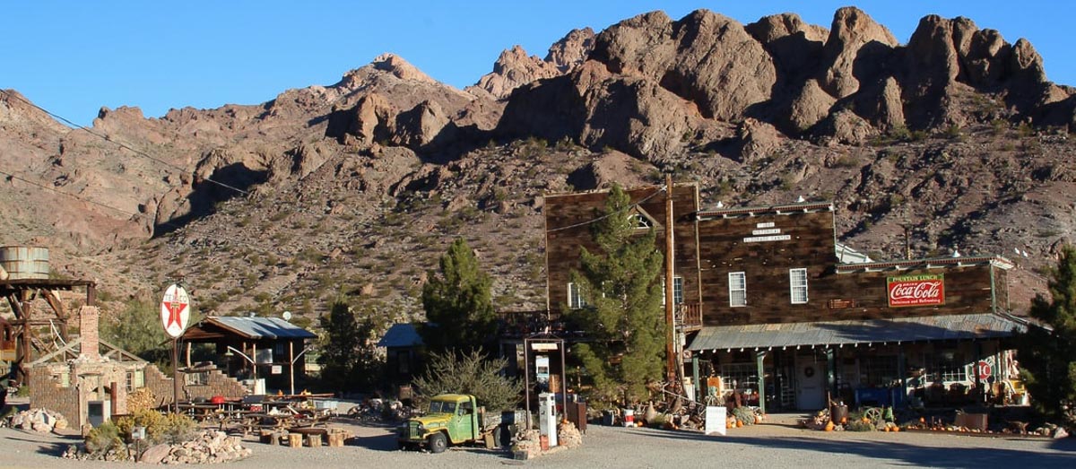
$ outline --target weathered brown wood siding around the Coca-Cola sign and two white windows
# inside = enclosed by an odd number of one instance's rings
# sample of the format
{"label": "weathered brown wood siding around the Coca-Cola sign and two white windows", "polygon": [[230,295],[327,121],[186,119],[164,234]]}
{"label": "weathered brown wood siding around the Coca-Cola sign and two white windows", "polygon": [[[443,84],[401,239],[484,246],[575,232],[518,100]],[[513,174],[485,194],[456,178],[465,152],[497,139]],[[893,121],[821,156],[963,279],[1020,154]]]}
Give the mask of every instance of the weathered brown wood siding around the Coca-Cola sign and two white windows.
{"label": "weathered brown wood siding around the Coca-Cola sign and two white windows", "polygon": [[[983,313],[993,311],[994,301],[1003,309],[1007,303],[1004,270],[988,265],[836,273],[833,216],[833,212],[829,211],[784,215],[769,213],[699,222],[704,324]],[[773,223],[771,228],[769,223]],[[745,242],[756,229],[780,229],[790,239]],[[807,269],[808,301],[793,304],[789,271],[798,268]],[[745,272],[746,307],[728,304],[731,272]],[[917,274],[944,275],[944,304],[890,307],[887,278]]]}

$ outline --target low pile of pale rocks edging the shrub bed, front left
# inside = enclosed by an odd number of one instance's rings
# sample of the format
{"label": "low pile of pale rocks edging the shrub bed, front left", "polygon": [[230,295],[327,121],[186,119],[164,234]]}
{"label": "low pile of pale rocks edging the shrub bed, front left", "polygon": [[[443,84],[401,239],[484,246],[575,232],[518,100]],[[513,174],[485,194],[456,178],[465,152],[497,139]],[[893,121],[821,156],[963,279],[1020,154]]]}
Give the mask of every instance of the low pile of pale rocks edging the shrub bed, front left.
{"label": "low pile of pale rocks edging the shrub bed, front left", "polygon": [[[128,451],[110,451],[101,456],[104,460],[129,460],[133,456],[134,446]],[[150,446],[142,452],[139,460],[148,464],[216,464],[243,459],[250,456],[251,449],[243,447],[239,437],[229,437],[223,431],[206,430],[190,440],[179,444],[161,443]],[[86,452],[84,445],[68,446],[63,453],[68,459],[90,459],[93,455]]]}

